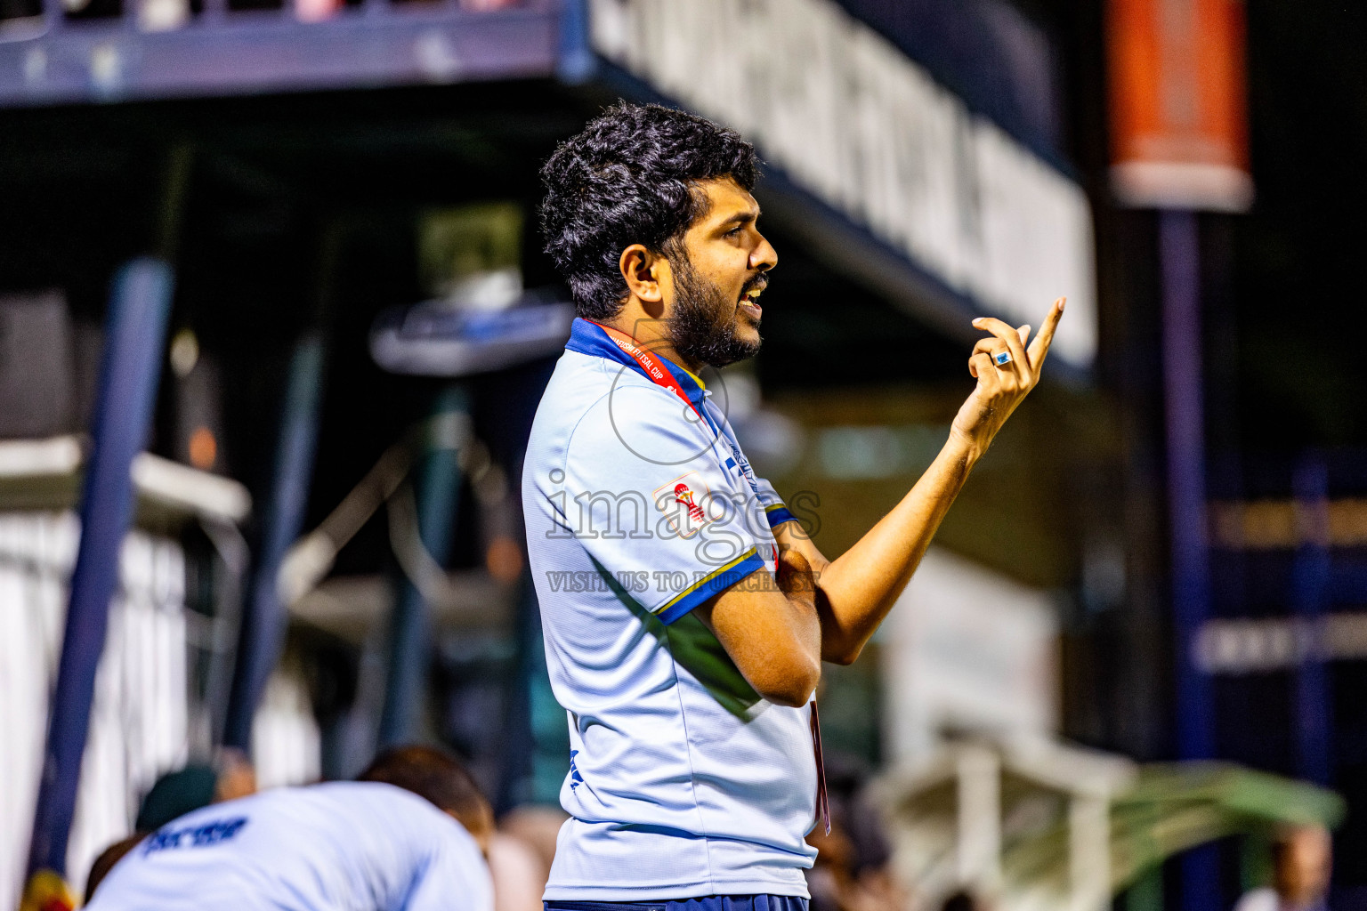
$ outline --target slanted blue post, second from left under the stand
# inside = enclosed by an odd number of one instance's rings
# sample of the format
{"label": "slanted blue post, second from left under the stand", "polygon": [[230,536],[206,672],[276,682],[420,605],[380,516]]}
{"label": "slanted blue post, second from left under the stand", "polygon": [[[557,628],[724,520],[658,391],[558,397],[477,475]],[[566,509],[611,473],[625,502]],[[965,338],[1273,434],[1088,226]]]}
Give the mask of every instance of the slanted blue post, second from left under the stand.
{"label": "slanted blue post, second from left under the stand", "polygon": [[286,552],[303,530],[309,507],[325,361],[321,332],[306,332],[295,343],[276,445],[271,501],[261,534],[261,553],[252,580],[252,595],[242,615],[238,664],[232,675],[223,735],[227,746],[245,751],[252,748],[252,720],[265,682],[280,658],[288,626],[287,605],[280,604],[276,576]]}

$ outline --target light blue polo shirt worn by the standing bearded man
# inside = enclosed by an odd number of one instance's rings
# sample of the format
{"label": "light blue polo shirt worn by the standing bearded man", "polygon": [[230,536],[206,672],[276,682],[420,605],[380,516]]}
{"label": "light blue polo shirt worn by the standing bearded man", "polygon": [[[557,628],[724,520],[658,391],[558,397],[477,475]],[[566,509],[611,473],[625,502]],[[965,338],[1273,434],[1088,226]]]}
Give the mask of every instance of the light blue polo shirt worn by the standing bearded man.
{"label": "light blue polo shirt worn by the standing bearded man", "polygon": [[809,709],[761,699],[690,613],[772,586],[771,527],[793,516],[715,397],[666,366],[689,403],[576,320],[532,425],[528,550],[570,725],[545,899],[805,897]]}

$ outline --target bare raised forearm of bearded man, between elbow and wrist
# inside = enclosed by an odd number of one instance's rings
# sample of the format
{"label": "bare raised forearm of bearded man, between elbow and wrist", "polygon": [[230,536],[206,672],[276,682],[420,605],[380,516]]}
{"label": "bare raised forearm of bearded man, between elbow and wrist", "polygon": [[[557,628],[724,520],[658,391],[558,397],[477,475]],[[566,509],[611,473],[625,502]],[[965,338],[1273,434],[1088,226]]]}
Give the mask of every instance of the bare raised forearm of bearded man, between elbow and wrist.
{"label": "bare raised forearm of bearded man, between elbow and wrist", "polygon": [[982,452],[950,434],[902,501],[820,572],[822,657],[849,664],[883,621],[925,556]]}

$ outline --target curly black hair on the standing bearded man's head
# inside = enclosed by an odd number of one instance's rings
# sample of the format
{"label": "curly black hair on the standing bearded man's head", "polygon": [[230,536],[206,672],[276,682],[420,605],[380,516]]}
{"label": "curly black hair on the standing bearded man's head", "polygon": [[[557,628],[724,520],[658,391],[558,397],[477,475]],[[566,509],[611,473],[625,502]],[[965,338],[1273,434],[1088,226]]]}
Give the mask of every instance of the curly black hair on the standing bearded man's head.
{"label": "curly black hair on the standing bearded man's head", "polygon": [[697,184],[733,178],[755,187],[755,146],[734,130],[658,104],[619,101],[562,142],[541,167],[545,251],[576,310],[610,320],[626,299],[618,261],[633,243],[677,255],[677,242],[707,212]]}

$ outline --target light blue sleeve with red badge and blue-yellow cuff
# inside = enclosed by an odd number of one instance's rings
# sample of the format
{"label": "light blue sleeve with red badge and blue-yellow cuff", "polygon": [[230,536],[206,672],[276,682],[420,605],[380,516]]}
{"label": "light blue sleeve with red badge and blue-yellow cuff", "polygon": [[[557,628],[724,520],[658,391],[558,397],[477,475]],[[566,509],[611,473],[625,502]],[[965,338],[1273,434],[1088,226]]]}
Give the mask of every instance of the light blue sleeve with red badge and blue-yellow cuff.
{"label": "light blue sleeve with red badge and blue-yellow cuff", "polygon": [[552,496],[604,583],[666,624],[764,570],[755,530],[767,519],[716,445],[716,430],[677,397],[619,387],[580,422]]}

